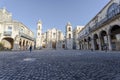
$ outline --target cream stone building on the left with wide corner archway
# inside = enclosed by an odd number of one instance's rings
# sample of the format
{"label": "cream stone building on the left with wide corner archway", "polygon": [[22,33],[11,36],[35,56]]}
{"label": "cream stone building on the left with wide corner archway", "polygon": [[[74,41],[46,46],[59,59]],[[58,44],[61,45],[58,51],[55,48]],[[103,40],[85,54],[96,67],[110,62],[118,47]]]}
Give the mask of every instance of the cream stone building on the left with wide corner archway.
{"label": "cream stone building on the left with wide corner archway", "polygon": [[0,9],[0,43],[6,49],[25,50],[34,46],[34,34],[23,23],[13,20],[5,8]]}

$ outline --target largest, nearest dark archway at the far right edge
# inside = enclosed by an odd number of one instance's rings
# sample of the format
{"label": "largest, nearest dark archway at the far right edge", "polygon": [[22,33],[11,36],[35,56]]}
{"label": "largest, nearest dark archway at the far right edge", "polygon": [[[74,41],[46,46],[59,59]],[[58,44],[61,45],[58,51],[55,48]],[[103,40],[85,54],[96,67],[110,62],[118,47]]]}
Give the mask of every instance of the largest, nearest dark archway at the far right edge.
{"label": "largest, nearest dark archway at the far right edge", "polygon": [[110,29],[112,50],[120,50],[120,26],[115,25]]}

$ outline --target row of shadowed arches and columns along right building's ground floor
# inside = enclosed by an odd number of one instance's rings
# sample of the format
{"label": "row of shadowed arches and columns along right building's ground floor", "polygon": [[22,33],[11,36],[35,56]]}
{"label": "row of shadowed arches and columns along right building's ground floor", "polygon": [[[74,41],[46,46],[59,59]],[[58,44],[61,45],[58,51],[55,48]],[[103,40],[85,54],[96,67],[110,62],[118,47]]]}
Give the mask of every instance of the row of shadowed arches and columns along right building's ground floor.
{"label": "row of shadowed arches and columns along right building's ground floor", "polygon": [[120,51],[120,26],[111,26],[79,41],[81,50],[113,50]]}

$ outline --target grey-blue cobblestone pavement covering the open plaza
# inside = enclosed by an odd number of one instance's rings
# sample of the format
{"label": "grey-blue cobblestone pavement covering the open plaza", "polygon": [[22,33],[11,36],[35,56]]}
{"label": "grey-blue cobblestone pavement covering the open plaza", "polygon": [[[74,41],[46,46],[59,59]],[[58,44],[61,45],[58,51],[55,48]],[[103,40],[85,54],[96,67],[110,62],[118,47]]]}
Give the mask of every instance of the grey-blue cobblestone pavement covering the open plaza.
{"label": "grey-blue cobblestone pavement covering the open plaza", "polygon": [[120,80],[120,53],[0,52],[0,80]]}

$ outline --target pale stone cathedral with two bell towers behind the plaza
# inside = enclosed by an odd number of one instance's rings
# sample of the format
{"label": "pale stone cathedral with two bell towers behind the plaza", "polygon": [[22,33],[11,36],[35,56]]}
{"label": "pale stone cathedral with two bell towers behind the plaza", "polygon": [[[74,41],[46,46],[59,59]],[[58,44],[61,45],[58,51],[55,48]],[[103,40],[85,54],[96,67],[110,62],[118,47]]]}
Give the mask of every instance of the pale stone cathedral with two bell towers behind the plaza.
{"label": "pale stone cathedral with two bell towers behind the plaza", "polygon": [[47,49],[73,49],[72,25],[68,22],[66,25],[65,36],[56,28],[49,29],[42,33],[42,22],[37,23],[36,48]]}

